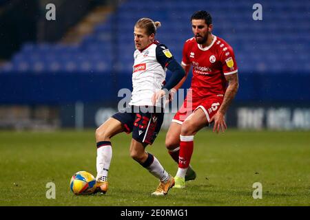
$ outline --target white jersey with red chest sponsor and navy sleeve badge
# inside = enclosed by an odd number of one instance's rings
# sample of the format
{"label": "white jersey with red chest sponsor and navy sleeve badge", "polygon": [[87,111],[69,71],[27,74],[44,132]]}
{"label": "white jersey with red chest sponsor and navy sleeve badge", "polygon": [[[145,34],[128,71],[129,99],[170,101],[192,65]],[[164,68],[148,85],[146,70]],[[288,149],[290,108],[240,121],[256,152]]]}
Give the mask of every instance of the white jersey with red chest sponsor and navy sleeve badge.
{"label": "white jersey with red chest sponsor and navy sleeve badge", "polygon": [[[165,45],[154,42],[142,52],[134,52],[132,100],[130,105],[152,106],[153,94],[165,85],[167,61],[172,58]],[[156,106],[161,107],[160,102]]]}

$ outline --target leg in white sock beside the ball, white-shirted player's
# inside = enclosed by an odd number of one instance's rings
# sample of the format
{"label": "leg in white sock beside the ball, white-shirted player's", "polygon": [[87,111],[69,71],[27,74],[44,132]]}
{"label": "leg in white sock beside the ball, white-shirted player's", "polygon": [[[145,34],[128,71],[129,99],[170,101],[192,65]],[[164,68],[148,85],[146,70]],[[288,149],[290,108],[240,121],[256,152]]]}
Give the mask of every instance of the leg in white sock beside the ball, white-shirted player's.
{"label": "leg in white sock beside the ball, white-shirted player's", "polygon": [[109,118],[96,129],[96,192],[107,192],[107,173],[112,159],[111,137],[123,131],[123,124],[115,118]]}

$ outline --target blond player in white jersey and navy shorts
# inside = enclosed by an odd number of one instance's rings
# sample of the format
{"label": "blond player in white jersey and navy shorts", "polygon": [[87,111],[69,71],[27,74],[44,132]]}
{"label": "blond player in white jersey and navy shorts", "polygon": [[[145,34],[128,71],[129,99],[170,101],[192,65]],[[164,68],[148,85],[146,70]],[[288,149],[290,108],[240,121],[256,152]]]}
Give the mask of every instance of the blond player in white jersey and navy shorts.
{"label": "blond player in white jersey and navy shorts", "polygon": [[[160,100],[185,76],[169,49],[154,39],[160,25],[160,22],[147,18],[139,19],[134,25],[136,51],[132,100],[125,112],[115,113],[96,130],[96,192],[107,192],[107,173],[112,159],[111,138],[121,132],[132,132],[131,157],[160,181],[152,195],[166,195],[174,186],[174,178],[154,155],[145,151],[147,144],[154,142],[163,123],[164,110]],[[167,69],[172,76],[166,83]]]}

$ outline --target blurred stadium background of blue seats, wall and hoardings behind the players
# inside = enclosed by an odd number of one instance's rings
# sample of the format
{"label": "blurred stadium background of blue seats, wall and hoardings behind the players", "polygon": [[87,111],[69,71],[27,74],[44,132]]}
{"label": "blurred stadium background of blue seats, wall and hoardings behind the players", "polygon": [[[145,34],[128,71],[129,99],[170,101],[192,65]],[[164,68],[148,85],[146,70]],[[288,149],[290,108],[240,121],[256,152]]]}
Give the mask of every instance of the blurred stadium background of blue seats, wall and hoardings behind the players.
{"label": "blurred stadium background of blue seats, wall and hoardings behind the players", "polygon": [[[255,3],[262,20],[253,19]],[[196,10],[211,13],[213,34],[236,55],[229,127],[310,129],[308,0],[0,0],[0,129],[99,126],[117,111],[119,89],[132,89],[134,23],[161,21],[156,38],[180,62]]]}

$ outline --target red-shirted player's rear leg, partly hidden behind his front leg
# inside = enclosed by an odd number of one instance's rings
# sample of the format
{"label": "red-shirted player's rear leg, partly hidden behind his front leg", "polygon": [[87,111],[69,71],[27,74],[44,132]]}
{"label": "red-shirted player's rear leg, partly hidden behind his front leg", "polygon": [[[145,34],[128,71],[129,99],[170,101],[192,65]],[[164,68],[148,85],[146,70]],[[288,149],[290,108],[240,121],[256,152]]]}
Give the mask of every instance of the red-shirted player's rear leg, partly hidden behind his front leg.
{"label": "red-shirted player's rear leg, partly hidden behind his front leg", "polygon": [[[172,121],[167,131],[165,146],[168,150],[169,155],[178,164],[178,156],[180,153],[180,131],[183,122]],[[196,179],[196,173],[189,164],[187,173],[185,175],[185,181]]]}

